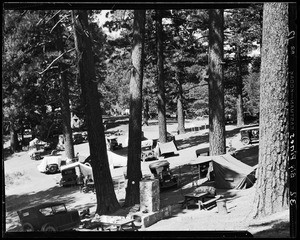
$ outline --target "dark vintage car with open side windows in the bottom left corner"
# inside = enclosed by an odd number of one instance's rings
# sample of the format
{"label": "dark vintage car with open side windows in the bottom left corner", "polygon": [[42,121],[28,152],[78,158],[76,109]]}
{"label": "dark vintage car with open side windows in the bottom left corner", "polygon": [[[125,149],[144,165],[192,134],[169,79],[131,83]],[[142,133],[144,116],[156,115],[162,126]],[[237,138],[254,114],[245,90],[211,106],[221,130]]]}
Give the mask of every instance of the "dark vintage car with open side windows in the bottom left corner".
{"label": "dark vintage car with open side windows in the bottom left corner", "polygon": [[25,232],[56,232],[77,228],[80,216],[77,210],[68,210],[63,202],[42,203],[17,211]]}

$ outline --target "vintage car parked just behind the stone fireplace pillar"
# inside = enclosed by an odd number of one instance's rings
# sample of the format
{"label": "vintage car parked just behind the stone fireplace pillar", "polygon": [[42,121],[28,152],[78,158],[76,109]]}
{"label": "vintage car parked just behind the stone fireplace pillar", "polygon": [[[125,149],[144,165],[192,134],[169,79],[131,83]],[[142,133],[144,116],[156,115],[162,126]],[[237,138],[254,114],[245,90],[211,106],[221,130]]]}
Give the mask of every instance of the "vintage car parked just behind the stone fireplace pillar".
{"label": "vintage car parked just behind the stone fireplace pillar", "polygon": [[151,163],[149,168],[154,177],[158,178],[161,189],[178,186],[178,178],[172,174],[167,160]]}

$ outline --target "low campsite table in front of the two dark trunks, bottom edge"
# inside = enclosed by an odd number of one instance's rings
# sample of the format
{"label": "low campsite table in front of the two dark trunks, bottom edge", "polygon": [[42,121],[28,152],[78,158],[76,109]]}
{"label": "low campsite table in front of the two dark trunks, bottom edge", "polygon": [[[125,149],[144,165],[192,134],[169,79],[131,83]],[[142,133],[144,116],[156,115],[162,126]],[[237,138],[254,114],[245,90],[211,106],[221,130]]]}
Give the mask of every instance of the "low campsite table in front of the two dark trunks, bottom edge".
{"label": "low campsite table in front of the two dark trunks, bottom edge", "polygon": [[117,231],[137,231],[137,227],[134,225],[134,219],[121,219],[115,222],[104,222],[104,221],[92,221],[93,228],[101,229],[103,231],[111,231],[116,228]]}

